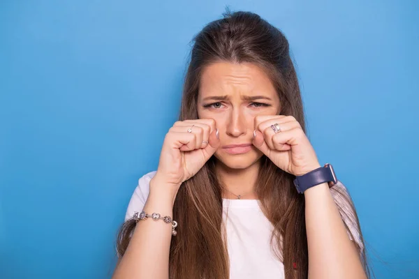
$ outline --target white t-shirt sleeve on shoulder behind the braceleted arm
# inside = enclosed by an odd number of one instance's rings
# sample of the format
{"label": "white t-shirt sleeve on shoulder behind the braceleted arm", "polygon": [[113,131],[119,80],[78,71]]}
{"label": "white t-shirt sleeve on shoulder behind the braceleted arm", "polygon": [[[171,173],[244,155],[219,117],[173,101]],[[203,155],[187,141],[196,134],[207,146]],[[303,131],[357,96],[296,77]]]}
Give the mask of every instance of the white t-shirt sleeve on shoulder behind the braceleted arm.
{"label": "white t-shirt sleeve on shoulder behind the braceleted arm", "polygon": [[125,213],[125,220],[133,217],[135,211],[142,211],[147,197],[149,195],[150,180],[156,174],[156,171],[148,172],[138,179],[137,187],[135,187],[133,195],[128,204],[128,208]]}

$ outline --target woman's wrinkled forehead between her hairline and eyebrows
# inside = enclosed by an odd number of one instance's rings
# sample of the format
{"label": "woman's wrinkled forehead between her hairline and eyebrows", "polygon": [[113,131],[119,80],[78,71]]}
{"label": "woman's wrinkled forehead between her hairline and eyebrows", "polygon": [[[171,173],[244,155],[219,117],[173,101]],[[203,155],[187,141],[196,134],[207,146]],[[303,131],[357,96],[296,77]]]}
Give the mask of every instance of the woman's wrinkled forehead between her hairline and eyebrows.
{"label": "woman's wrinkled forehead between her hairline and eyebrows", "polygon": [[[221,92],[222,91],[222,92]],[[200,96],[212,93],[277,95],[265,71],[252,63],[216,62],[203,69]]]}

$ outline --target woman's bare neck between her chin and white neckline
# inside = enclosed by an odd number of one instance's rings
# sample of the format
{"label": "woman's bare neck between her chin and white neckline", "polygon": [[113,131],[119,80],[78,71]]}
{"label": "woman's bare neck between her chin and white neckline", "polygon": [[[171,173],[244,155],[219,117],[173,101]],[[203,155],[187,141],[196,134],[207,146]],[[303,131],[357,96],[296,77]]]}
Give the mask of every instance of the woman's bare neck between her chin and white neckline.
{"label": "woman's bare neck between her chin and white neckline", "polygon": [[221,185],[227,190],[223,190],[223,198],[237,199],[258,199],[255,193],[256,179],[258,179],[259,162],[247,167],[246,169],[232,169],[223,163],[216,163],[216,173]]}

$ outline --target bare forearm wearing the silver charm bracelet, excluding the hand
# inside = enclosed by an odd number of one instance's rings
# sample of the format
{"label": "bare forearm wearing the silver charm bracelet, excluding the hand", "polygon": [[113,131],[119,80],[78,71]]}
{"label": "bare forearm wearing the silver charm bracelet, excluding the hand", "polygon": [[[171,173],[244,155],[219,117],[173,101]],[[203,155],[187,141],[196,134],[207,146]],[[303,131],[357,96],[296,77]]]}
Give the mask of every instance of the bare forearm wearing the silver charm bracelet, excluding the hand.
{"label": "bare forearm wearing the silver charm bracelet, excluding the hand", "polygon": [[[144,211],[172,217],[176,193],[170,193],[170,188],[153,178]],[[172,225],[151,218],[139,220],[112,279],[168,279],[171,240]]]}

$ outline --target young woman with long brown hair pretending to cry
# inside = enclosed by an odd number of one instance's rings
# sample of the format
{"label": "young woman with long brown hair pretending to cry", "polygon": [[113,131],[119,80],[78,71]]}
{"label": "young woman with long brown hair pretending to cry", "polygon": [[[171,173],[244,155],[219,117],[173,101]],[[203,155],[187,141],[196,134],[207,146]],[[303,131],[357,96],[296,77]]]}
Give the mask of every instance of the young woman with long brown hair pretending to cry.
{"label": "young woman with long brown hair pretending to cry", "polygon": [[284,35],[237,12],[194,42],[179,121],[135,188],[113,278],[367,278],[351,197],[305,134]]}

